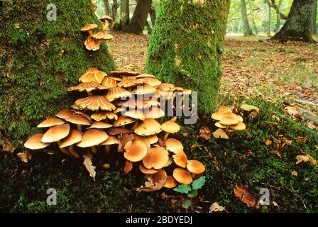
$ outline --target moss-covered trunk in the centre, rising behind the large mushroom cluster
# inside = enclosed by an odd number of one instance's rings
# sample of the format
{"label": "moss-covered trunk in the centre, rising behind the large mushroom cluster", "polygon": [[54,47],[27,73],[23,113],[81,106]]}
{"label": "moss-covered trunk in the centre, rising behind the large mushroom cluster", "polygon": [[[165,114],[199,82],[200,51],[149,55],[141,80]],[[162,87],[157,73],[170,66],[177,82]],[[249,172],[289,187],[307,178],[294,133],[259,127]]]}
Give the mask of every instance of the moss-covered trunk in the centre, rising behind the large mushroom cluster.
{"label": "moss-covered trunk in the centre, rising behind the large mushroom cluster", "polygon": [[219,92],[230,1],[196,2],[161,1],[146,72],[199,92],[198,110],[211,113]]}

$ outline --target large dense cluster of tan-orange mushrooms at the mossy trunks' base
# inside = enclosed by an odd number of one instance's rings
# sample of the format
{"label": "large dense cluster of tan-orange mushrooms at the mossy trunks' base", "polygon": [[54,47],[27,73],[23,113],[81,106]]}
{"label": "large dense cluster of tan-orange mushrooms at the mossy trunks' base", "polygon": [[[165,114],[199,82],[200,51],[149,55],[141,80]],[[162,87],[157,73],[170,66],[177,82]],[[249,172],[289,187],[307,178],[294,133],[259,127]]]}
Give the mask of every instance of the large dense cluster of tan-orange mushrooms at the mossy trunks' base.
{"label": "large dense cluster of tan-orange mushrooms at the mossy trunks' base", "polygon": [[[82,158],[87,152],[107,155],[116,146],[126,159],[124,172],[136,165],[146,175],[148,182],[137,189],[140,192],[191,184],[205,171],[201,162],[187,159],[179,140],[169,137],[180,131],[177,117],[158,122],[165,116],[160,106],[168,101],[174,107],[181,105],[175,92],[183,99],[190,90],[129,70],[111,71],[108,76],[89,68],[79,82],[67,89],[81,96],[72,109],[63,109],[40,123],[38,128],[48,130],[29,138],[26,148],[37,150],[53,144],[67,156]],[[107,163],[102,166],[109,167]]]}

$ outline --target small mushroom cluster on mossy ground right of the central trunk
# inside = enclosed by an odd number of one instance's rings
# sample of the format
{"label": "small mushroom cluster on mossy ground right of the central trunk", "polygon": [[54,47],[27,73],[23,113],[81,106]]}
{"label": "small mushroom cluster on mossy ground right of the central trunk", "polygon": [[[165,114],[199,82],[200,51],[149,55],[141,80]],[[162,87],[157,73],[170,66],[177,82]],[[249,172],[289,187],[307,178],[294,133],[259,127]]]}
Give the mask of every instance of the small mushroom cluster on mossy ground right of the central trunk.
{"label": "small mushroom cluster on mossy ground right of the central trunk", "polygon": [[216,120],[215,126],[218,128],[213,136],[215,138],[229,139],[229,136],[234,135],[237,131],[246,129],[243,123],[243,118],[234,113],[234,110],[228,106],[219,106],[217,111],[211,115],[212,119]]}

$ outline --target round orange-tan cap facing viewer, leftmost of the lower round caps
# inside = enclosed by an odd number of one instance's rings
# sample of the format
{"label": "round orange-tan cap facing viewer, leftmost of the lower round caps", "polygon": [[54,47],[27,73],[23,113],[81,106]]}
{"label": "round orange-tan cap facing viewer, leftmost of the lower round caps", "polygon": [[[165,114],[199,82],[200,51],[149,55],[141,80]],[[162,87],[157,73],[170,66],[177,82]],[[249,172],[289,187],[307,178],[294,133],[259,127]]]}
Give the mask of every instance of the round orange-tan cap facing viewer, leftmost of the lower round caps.
{"label": "round orange-tan cap facing viewer, leftmost of the lower round caps", "polygon": [[124,157],[131,162],[139,162],[147,154],[147,146],[141,140],[128,141],[124,150]]}

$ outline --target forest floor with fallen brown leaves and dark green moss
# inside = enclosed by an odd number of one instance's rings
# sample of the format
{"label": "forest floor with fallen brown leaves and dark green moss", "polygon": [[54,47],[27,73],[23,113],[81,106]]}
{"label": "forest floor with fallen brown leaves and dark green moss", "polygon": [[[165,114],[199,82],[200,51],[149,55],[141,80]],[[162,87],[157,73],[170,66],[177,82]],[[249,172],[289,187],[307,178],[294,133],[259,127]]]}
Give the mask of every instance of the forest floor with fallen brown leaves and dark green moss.
{"label": "forest floor with fallen brown leaves and dark green moss", "polygon": [[[115,33],[109,48],[117,67],[142,71],[148,40],[146,35]],[[116,149],[109,153],[110,169],[93,163],[96,181],[82,160],[38,152],[24,163],[16,150],[0,151],[0,211],[209,212],[216,202],[226,212],[318,212],[317,126],[298,116],[299,109],[317,112],[317,48],[226,38],[219,103],[247,103],[260,113],[238,109],[247,130],[229,140],[211,136],[216,127],[210,116],[199,116],[196,124],[182,126],[172,136],[182,142],[189,159],[206,167],[205,185],[190,209],[182,207],[185,194],[170,189],[136,192],[144,176],[136,166],[125,175],[124,158]],[[202,127],[207,127],[204,136]],[[57,206],[46,204],[51,187],[57,190]],[[262,189],[268,189],[269,205],[256,204]]]}

